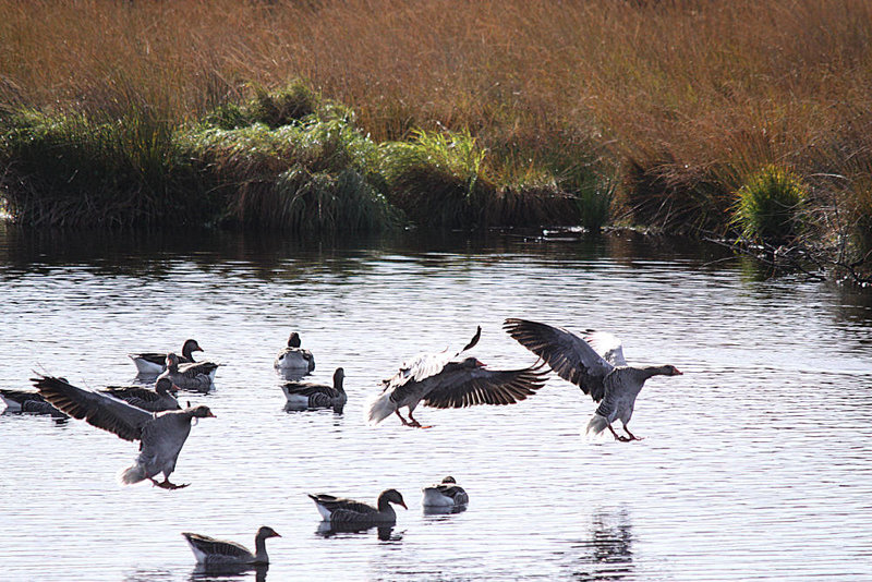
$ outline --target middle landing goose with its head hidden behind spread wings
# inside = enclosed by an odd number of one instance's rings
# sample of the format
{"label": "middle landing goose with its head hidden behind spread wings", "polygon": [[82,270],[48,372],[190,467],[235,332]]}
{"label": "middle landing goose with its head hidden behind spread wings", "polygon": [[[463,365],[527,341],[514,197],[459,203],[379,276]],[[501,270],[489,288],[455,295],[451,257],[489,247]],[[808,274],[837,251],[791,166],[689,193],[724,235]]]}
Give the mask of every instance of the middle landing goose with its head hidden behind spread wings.
{"label": "middle landing goose with its head hidden behind spread wings", "polygon": [[[403,363],[397,374],[383,380],[382,393],[370,405],[370,423],[378,424],[395,413],[404,426],[429,428],[412,416],[422,401],[438,409],[513,404],[544,386],[547,373],[534,367],[496,371],[485,369],[485,364],[475,357],[458,360],[479,342],[481,335],[479,327],[472,341],[457,353],[421,353]],[[402,407],[409,409],[409,421],[400,414]]]}

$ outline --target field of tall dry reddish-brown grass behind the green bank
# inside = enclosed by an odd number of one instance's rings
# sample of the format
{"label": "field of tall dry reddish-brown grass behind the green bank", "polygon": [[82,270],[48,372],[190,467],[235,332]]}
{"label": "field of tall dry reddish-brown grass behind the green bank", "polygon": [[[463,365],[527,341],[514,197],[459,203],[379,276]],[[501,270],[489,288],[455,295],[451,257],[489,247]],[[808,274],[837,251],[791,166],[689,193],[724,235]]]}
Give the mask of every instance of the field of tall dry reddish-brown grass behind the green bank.
{"label": "field of tall dry reddish-brown grass behind the green bank", "polygon": [[512,171],[583,147],[628,169],[634,205],[710,205],[706,228],[766,163],[822,201],[821,174],[848,193],[870,183],[867,0],[0,0],[0,13],[4,105],[182,121],[246,84],[304,77],[377,141],[469,129],[511,151]]}

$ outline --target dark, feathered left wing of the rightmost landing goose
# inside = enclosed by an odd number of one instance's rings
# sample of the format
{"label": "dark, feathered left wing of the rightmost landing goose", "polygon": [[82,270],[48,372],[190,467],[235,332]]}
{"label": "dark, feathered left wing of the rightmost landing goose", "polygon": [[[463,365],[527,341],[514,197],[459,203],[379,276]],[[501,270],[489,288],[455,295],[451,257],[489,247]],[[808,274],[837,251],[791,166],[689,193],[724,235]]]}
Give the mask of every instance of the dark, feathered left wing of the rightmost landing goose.
{"label": "dark, feathered left wing of the rightmost landing goose", "polygon": [[[521,345],[542,357],[558,376],[591,395],[595,402],[603,399],[603,380],[615,366],[586,341],[564,328],[526,319],[506,319],[502,328]],[[620,357],[623,357],[622,352]]]}

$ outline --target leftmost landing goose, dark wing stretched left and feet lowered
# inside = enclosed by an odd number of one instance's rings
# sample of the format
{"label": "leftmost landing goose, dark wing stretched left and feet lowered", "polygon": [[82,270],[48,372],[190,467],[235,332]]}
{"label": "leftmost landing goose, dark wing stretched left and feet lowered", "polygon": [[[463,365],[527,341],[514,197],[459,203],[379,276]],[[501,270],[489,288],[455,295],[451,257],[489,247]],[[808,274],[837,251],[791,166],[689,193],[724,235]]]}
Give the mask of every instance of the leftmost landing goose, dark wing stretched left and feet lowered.
{"label": "leftmost landing goose, dark wing stretched left and feet lowered", "polygon": [[[39,393],[61,412],[113,433],[124,440],[140,441],[136,461],[120,474],[123,484],[130,485],[147,478],[165,489],[187,486],[170,483],[169,476],[175,469],[175,461],[191,432],[191,421],[215,417],[208,407],[152,413],[112,396],[77,388],[52,376],[32,378],[32,381]],[[154,478],[158,473],[164,473],[161,483]]]}

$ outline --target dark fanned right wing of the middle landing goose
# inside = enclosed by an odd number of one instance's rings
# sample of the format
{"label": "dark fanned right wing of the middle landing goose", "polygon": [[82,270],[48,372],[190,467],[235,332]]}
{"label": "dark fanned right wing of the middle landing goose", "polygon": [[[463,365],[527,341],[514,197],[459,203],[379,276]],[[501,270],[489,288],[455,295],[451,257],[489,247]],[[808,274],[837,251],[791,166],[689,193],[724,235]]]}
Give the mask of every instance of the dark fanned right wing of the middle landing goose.
{"label": "dark fanned right wing of the middle landing goose", "polygon": [[469,368],[452,362],[443,375],[441,381],[425,396],[425,405],[457,409],[475,404],[513,404],[542,388],[547,372],[535,367],[509,371]]}

